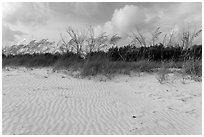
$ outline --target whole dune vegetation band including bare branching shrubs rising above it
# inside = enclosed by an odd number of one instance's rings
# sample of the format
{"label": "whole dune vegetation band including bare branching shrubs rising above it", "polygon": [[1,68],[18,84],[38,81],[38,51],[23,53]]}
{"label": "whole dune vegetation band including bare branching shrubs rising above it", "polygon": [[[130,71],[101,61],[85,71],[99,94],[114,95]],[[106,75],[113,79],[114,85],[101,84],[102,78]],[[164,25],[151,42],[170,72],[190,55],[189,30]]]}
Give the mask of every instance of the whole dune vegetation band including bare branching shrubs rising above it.
{"label": "whole dune vegetation band including bare branching shrubs rising above it", "polygon": [[[147,41],[142,33],[132,32],[132,43],[117,47],[121,37],[107,36],[105,33],[96,35],[93,27],[87,33],[76,31],[72,27],[66,29],[67,37],[61,35],[61,42],[66,53],[35,53],[2,55],[2,66],[53,67],[57,69],[78,70],[83,76],[103,74],[110,76],[116,73],[152,72],[161,68],[160,81],[165,79],[168,68],[180,68],[183,73],[202,76],[202,45],[192,45],[201,30],[182,33],[181,46],[173,43],[173,33],[164,35],[163,42],[158,43],[161,35],[158,27],[152,33],[152,41]],[[85,48],[83,47],[85,46]],[[108,50],[103,50],[108,47]]]}

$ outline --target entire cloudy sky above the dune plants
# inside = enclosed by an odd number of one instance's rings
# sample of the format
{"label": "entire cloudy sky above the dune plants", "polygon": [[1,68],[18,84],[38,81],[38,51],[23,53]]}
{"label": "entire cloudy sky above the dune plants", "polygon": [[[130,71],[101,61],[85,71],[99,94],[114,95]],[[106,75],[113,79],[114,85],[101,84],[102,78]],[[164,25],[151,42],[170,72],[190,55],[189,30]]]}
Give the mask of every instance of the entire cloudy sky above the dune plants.
{"label": "entire cloudy sky above the dune plants", "polygon": [[[202,26],[200,3],[2,3],[2,40],[8,46],[33,39],[59,41],[65,28],[94,26],[96,33],[119,34],[128,41],[136,27],[151,34],[181,32]],[[201,38],[197,42],[201,43]]]}

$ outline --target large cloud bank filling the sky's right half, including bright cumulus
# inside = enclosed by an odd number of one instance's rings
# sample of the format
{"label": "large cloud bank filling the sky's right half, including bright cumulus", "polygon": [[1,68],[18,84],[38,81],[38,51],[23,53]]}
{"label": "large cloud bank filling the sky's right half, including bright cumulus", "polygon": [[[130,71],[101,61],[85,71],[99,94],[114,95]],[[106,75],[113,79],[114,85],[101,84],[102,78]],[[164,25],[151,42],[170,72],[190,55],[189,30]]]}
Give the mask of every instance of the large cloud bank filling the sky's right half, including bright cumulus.
{"label": "large cloud bank filling the sky's right half, including bright cumulus", "polygon": [[127,38],[127,34],[138,28],[147,38],[157,27],[161,27],[163,35],[176,29],[179,33],[186,24],[201,27],[202,24],[201,3],[171,3],[169,5],[152,4],[145,7],[137,5],[125,5],[115,9],[110,21],[100,28],[109,34],[119,34]]}

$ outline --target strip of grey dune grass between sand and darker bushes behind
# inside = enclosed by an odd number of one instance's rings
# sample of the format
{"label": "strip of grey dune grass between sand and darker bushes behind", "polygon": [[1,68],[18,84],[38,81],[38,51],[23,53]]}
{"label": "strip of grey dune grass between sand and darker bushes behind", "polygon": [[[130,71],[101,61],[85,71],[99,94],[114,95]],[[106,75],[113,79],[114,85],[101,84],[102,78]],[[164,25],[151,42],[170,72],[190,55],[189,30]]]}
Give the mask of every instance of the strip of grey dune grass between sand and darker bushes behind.
{"label": "strip of grey dune grass between sand and darker bushes behind", "polygon": [[201,77],[202,60],[187,61],[149,61],[134,62],[110,61],[104,56],[82,59],[76,55],[69,56],[14,56],[2,59],[2,66],[52,67],[53,70],[79,71],[81,76],[105,75],[111,77],[115,74],[129,75],[131,72],[158,72],[159,81],[164,81],[169,68],[180,69],[181,73]]}

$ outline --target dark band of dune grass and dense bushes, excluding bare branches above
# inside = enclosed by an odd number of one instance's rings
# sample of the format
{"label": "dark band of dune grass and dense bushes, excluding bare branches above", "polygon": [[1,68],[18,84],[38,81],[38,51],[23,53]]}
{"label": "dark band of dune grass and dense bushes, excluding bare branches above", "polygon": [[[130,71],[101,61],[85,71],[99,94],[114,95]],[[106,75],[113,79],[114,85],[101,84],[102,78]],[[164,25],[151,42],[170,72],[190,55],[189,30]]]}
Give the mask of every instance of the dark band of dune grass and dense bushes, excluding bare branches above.
{"label": "dark band of dune grass and dense bushes, excluding bare branches above", "polygon": [[[190,60],[185,61],[189,58]],[[80,70],[84,76],[97,74],[130,74],[135,72],[152,72],[161,67],[183,68],[190,75],[202,76],[202,46],[195,45],[191,49],[181,47],[151,47],[124,46],[110,48],[107,52],[91,52],[85,58],[73,52],[61,54],[2,54],[2,66],[47,67],[56,69]]]}

